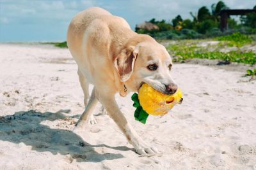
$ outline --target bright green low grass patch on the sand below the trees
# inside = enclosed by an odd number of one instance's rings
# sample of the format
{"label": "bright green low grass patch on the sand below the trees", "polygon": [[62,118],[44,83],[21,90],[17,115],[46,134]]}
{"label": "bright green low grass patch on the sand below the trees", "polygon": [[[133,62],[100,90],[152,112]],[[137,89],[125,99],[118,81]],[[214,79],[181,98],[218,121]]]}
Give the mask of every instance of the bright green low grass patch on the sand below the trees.
{"label": "bright green low grass patch on the sand below the trees", "polygon": [[[209,41],[218,39],[214,44],[202,45]],[[234,33],[230,36],[222,36],[214,39],[206,40],[180,40],[175,41],[172,45],[167,46],[170,55],[174,56],[174,62],[184,62],[188,59],[211,59],[224,60],[230,62],[239,62],[244,64],[256,64],[256,53],[250,50],[243,49],[244,45],[255,44],[252,38],[247,35]],[[228,46],[236,46],[230,48]],[[241,50],[243,49],[243,50]]]}

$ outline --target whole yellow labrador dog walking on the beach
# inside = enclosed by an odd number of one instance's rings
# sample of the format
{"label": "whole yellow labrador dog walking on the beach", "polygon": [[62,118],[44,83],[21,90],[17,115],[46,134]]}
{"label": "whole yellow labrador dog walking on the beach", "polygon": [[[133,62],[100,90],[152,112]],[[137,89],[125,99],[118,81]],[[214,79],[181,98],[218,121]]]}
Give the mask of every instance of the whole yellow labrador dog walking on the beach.
{"label": "whole yellow labrador dog walking on the beach", "polygon": [[[148,35],[132,31],[124,18],[97,7],[81,11],[72,19],[67,44],[78,65],[87,105],[74,131],[84,129],[99,101],[137,153],[159,153],[129,125],[116,104],[115,94],[138,92],[143,83],[165,94],[175,93],[177,85],[170,76],[172,60],[164,46]],[[88,101],[89,83],[94,88]]]}

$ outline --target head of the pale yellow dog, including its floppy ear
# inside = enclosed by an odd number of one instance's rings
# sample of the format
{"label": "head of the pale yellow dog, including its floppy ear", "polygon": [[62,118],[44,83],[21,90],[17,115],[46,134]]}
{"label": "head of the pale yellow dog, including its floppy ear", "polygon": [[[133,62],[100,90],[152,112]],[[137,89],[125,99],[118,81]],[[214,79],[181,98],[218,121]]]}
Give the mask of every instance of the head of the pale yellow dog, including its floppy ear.
{"label": "head of the pale yellow dog, including its floppy ear", "polygon": [[118,54],[114,64],[120,80],[131,91],[138,91],[143,83],[164,94],[177,91],[170,73],[172,59],[164,46],[154,39],[127,46]]}

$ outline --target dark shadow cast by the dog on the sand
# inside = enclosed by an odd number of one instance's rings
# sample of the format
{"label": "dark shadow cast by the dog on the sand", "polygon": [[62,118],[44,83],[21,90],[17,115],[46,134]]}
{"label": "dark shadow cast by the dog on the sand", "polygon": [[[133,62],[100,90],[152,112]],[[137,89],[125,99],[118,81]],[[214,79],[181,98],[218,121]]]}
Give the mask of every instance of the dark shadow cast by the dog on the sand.
{"label": "dark shadow cast by the dog on the sand", "polygon": [[90,145],[72,131],[51,129],[40,122],[67,118],[60,111],[40,113],[34,110],[19,111],[14,115],[0,117],[0,140],[12,143],[24,143],[37,152],[51,152],[56,155],[70,155],[77,162],[101,162],[102,160],[120,159],[120,153],[97,153],[94,148],[107,147],[114,150],[132,150],[126,146]]}

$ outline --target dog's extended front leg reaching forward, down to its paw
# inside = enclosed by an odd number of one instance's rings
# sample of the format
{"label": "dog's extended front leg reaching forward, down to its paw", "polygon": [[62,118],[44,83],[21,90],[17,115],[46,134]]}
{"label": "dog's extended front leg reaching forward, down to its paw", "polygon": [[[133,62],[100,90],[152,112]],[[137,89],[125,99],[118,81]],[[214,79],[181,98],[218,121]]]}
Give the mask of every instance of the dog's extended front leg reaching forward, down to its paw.
{"label": "dog's extended front leg reaching forward, down to its paw", "polygon": [[[104,94],[104,93],[102,93]],[[109,117],[113,118],[121,131],[125,134],[129,143],[134,146],[137,153],[141,155],[155,155],[158,152],[157,148],[154,148],[147,143],[145,143],[140,136],[134,131],[134,129],[129,125],[123,113],[119,110],[116,104],[114,95],[111,96],[98,96],[100,103],[108,111]]]}

